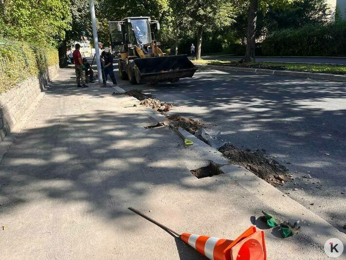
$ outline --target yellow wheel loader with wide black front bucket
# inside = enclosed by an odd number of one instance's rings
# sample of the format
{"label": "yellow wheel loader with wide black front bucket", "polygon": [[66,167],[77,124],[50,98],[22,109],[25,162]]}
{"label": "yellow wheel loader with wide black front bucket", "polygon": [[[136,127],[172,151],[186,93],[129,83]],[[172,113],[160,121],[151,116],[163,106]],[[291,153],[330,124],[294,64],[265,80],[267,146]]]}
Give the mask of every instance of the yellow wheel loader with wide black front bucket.
{"label": "yellow wheel loader with wide black front bucket", "polygon": [[131,84],[177,82],[197,70],[187,55],[164,55],[152,30],[160,30],[160,23],[150,17],[109,22],[109,29],[112,51],[119,55],[120,77]]}

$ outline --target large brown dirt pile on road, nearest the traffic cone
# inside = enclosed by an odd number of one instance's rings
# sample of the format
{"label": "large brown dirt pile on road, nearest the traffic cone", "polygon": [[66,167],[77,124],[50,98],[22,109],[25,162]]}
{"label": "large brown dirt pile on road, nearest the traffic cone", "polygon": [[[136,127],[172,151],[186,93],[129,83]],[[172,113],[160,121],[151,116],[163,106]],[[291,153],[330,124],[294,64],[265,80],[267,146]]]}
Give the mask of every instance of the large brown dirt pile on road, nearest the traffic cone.
{"label": "large brown dirt pile on road, nearest the traffic cone", "polygon": [[273,186],[282,185],[283,181],[288,180],[288,169],[274,159],[265,158],[264,150],[244,151],[237,149],[230,143],[225,143],[219,148],[219,151],[229,158],[232,163],[245,167]]}

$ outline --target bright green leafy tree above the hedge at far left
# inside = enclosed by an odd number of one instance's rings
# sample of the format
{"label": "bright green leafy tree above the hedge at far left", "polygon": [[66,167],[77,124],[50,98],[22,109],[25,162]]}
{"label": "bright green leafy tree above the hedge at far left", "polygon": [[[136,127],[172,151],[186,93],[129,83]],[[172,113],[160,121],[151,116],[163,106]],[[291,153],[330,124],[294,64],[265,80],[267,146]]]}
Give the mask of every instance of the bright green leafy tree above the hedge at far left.
{"label": "bright green leafy tree above the hedge at far left", "polygon": [[1,0],[0,36],[57,45],[69,28],[69,0]]}

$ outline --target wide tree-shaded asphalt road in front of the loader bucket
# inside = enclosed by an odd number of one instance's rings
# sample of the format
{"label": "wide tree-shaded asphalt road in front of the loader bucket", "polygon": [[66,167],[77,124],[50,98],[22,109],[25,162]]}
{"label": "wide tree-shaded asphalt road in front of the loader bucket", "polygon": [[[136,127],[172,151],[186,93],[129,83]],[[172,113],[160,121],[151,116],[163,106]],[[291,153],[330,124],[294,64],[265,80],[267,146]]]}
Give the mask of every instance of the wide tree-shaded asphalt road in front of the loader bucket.
{"label": "wide tree-shaded asphalt road in front of the loader bucket", "polygon": [[201,120],[236,147],[276,156],[295,176],[281,190],[346,231],[345,83],[213,69],[174,84],[118,83],[174,103],[171,113]]}

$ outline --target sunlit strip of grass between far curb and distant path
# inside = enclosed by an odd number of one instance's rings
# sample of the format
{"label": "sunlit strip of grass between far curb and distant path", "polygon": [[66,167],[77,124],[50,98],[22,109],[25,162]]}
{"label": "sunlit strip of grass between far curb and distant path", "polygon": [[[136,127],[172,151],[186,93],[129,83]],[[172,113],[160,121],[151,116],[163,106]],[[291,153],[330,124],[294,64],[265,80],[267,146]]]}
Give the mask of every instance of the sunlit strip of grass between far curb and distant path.
{"label": "sunlit strip of grass between far curb and distant path", "polygon": [[193,60],[194,64],[201,65],[219,65],[248,68],[263,68],[273,70],[293,70],[315,73],[346,74],[346,65],[327,65],[327,64],[299,64],[299,63],[274,63],[274,62],[256,62],[239,63],[237,61],[219,61],[219,60]]}

